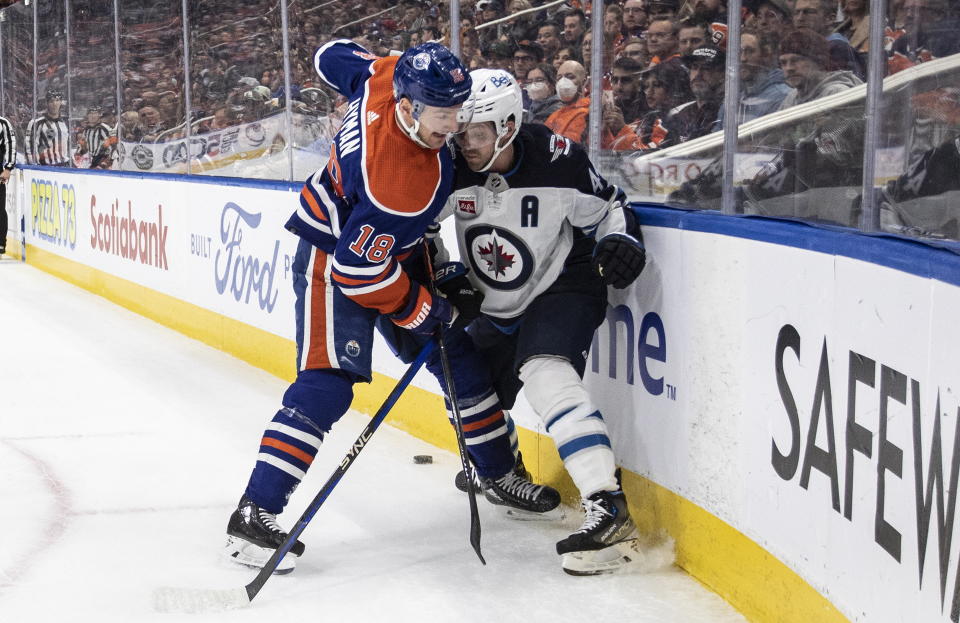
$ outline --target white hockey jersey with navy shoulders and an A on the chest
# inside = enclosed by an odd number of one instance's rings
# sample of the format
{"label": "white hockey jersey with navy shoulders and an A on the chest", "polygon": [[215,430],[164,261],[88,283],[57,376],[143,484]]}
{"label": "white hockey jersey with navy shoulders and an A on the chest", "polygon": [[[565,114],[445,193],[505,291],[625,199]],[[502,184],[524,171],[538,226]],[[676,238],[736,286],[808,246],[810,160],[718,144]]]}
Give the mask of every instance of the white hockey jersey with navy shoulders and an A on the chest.
{"label": "white hockey jersey with navy shoulders and an A on the chest", "polygon": [[571,251],[584,254],[584,245],[574,249],[583,238],[577,230],[596,240],[614,232],[640,237],[623,191],[596,172],[580,145],[538,124],[522,126],[513,145],[515,165],[502,175],[475,173],[458,153],[456,190],[443,213],[454,216],[460,259],[484,294],[483,313],[503,320],[553,284]]}

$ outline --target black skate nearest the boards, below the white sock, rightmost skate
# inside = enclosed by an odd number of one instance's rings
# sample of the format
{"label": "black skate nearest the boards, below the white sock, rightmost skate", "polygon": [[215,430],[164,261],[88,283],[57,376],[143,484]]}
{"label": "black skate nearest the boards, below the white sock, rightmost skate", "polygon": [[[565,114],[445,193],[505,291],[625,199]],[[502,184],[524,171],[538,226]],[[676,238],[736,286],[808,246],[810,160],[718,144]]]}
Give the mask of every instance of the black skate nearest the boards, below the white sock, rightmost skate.
{"label": "black skate nearest the boards, below the white sock, rightmost skate", "polygon": [[599,491],[582,504],[583,525],[557,543],[564,571],[570,575],[614,573],[638,559],[637,528],[623,491]]}

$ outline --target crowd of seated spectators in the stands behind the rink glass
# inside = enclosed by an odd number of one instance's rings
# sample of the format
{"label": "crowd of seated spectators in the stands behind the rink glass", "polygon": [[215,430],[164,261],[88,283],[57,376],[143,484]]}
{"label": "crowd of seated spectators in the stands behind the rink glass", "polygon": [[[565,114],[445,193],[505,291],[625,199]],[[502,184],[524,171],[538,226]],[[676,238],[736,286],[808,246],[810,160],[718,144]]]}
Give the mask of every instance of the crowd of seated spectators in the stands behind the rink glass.
{"label": "crowd of seated spectators in the stands behind the rink glass", "polygon": [[[602,98],[601,146],[608,150],[662,149],[723,126],[730,53],[726,0],[610,1],[602,16],[592,14],[591,4],[463,0],[455,25],[461,56],[471,69],[513,73],[524,88],[526,121],[544,123],[574,141],[588,139],[595,96]],[[386,55],[424,41],[450,40],[445,1],[288,0],[287,5],[289,94],[279,0],[189,3],[189,79],[179,2],[122,3],[118,76],[112,5],[72,0],[72,80],[68,85],[65,16],[48,9],[52,12],[40,18],[38,81],[44,89],[69,87],[77,137],[91,124],[103,124],[121,142],[164,142],[188,132],[187,89],[191,134],[266,119],[284,111],[288,97],[295,113],[335,119],[342,99],[312,66],[324,42],[352,38]],[[865,79],[867,0],[744,0],[743,5],[738,124]],[[888,72],[960,51],[954,18],[947,0],[892,0],[886,18]],[[591,92],[589,76],[593,19],[603,24],[599,94]],[[111,160],[102,162],[110,166]]]}

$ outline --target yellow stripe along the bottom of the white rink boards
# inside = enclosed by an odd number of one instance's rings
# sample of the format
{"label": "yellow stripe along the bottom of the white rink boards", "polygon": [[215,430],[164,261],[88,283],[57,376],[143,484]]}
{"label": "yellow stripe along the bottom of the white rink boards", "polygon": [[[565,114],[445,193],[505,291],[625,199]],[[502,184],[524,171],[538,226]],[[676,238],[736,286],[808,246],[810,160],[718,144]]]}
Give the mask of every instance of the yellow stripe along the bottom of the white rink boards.
{"label": "yellow stripe along the bottom of the white rink boards", "polygon": [[[292,381],[296,374],[296,345],[290,340],[33,245],[27,245],[27,263],[282,379]],[[372,383],[355,386],[352,407],[372,414],[395,383],[395,379],[374,373]],[[434,416],[424,417],[426,413]],[[428,443],[457,451],[443,401],[432,392],[409,387],[387,421]],[[557,487],[568,502],[575,501],[576,489],[553,441],[527,429],[519,428],[518,432],[524,463],[533,476]],[[640,530],[673,537],[677,565],[729,601],[748,620],[848,623],[793,570],[703,508],[633,472],[623,472],[623,487]]]}

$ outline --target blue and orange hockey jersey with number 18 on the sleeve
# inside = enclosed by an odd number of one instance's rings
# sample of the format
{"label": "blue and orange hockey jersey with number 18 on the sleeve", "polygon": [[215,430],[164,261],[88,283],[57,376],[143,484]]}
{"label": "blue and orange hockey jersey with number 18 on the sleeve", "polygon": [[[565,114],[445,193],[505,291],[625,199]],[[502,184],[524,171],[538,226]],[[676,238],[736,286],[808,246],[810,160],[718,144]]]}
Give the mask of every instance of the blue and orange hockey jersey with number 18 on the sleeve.
{"label": "blue and orange hockey jersey with number 18 on the sleeve", "polygon": [[383,314],[429,296],[400,263],[419,253],[453,187],[450,150],[418,146],[397,122],[396,63],[348,40],[317,50],[317,73],[349,104],[327,166],[307,179],[286,224],[331,256],[333,285]]}

